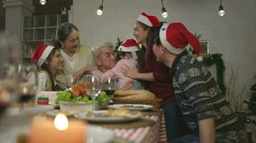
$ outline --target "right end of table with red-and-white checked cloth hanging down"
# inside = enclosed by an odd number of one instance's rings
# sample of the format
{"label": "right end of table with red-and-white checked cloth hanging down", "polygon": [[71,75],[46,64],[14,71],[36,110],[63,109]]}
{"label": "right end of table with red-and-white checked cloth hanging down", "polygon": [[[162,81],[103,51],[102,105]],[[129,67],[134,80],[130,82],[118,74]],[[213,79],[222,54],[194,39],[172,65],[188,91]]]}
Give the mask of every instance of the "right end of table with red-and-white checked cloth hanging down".
{"label": "right end of table with red-and-white checked cloth hanging down", "polygon": [[[157,143],[167,142],[165,117],[162,111],[142,112],[143,119],[131,123],[120,124],[93,124],[106,129],[111,129],[114,133],[114,142],[134,142],[134,143]],[[147,124],[149,121],[151,124]],[[140,124],[140,122],[144,124]],[[90,123],[89,123],[90,124]]]}

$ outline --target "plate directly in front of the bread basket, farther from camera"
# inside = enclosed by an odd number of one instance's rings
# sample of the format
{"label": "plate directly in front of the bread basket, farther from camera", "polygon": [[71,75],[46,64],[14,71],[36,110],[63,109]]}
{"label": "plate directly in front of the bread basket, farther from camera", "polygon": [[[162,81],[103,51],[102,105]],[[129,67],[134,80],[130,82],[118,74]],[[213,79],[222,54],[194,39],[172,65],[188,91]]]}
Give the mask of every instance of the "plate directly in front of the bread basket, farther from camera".
{"label": "plate directly in front of the bread basket, farther from camera", "polygon": [[107,106],[110,109],[129,109],[132,111],[145,111],[152,109],[152,105],[146,104],[111,104]]}

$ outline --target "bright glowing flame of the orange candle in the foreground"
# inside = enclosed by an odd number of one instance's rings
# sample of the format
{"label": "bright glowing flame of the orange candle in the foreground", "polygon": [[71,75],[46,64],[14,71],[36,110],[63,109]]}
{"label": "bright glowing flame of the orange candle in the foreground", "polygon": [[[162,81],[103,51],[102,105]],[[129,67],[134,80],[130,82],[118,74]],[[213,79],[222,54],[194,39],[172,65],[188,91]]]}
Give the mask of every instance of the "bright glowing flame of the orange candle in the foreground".
{"label": "bright glowing flame of the orange candle in the foreground", "polygon": [[54,126],[61,131],[68,129],[68,118],[65,114],[57,114],[54,119]]}

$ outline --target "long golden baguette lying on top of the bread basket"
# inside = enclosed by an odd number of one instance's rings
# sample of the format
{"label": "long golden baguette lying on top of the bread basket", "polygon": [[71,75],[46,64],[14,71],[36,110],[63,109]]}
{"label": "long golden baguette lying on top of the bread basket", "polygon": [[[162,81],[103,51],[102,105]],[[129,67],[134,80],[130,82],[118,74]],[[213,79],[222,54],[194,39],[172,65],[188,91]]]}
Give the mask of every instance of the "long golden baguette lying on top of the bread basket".
{"label": "long golden baguette lying on top of the bread basket", "polygon": [[153,94],[147,90],[127,90],[127,91],[116,91],[114,97],[127,97],[136,94]]}

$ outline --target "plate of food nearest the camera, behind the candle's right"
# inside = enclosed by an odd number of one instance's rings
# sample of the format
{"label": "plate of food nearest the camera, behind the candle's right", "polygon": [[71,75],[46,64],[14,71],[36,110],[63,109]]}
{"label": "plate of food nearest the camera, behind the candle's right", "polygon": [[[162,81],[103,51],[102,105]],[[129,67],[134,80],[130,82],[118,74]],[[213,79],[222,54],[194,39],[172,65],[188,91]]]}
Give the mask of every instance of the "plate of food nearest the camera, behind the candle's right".
{"label": "plate of food nearest the camera, behind the candle's right", "polygon": [[74,115],[78,119],[88,122],[131,122],[142,117],[141,112],[132,112],[128,109],[108,109],[93,112],[81,112]]}

